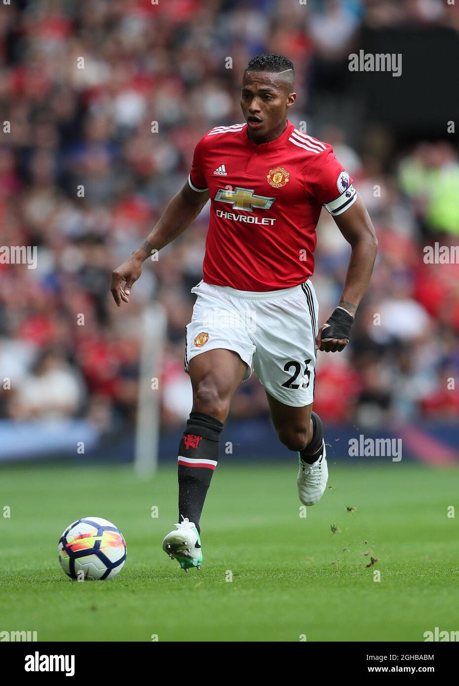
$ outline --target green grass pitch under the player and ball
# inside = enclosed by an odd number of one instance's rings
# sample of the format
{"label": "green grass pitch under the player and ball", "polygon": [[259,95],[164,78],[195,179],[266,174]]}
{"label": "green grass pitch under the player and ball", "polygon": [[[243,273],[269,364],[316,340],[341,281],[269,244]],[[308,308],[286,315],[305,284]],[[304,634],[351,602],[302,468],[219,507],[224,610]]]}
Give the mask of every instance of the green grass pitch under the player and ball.
{"label": "green grass pitch under the player and ball", "polygon": [[[3,466],[0,631],[36,630],[38,641],[423,641],[436,626],[457,630],[458,518],[447,508],[458,505],[458,471],[329,467],[334,488],[304,519],[294,460],[222,460],[201,520],[204,565],[185,575],[161,549],[176,522],[175,469],[138,480],[127,466]],[[89,516],[125,536],[114,580],[74,582],[60,569],[60,534]]]}

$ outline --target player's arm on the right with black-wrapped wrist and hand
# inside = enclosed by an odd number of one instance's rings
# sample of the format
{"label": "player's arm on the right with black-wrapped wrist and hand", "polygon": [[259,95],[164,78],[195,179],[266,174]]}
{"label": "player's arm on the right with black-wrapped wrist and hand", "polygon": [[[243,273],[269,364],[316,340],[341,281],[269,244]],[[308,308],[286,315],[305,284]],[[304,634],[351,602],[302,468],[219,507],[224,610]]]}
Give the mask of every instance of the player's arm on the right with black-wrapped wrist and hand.
{"label": "player's arm on the right with black-wrapped wrist and hand", "polygon": [[360,300],[370,283],[378,241],[364,201],[357,200],[342,214],[333,217],[352,248],[346,281],[338,307],[318,331],[316,349],[335,353],[349,342],[351,326]]}

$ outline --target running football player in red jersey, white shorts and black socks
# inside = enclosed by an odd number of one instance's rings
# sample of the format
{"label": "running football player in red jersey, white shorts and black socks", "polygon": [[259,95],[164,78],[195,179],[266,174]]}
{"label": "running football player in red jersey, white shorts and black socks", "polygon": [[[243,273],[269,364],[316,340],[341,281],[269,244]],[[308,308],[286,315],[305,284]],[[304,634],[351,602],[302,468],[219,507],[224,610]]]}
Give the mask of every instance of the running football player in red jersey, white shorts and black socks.
{"label": "running football player in red jersey, white shorts and black socks", "polygon": [[[198,141],[183,189],[113,272],[113,297],[128,303],[143,261],[183,233],[210,198],[203,279],[191,289],[196,303],[187,325],[193,407],[178,448],[178,523],[163,541],[185,571],[202,564],[200,516],[220,434],[252,366],[279,440],[298,454],[301,502],[314,505],[327,486],[323,425],[312,411],[317,351],[339,352],[349,342],[377,239],[332,147],[289,121],[295,99],[290,60],[250,60],[242,80],[245,123],[215,126]],[[311,276],[322,207],[351,245],[351,258],[340,301],[319,327]]]}

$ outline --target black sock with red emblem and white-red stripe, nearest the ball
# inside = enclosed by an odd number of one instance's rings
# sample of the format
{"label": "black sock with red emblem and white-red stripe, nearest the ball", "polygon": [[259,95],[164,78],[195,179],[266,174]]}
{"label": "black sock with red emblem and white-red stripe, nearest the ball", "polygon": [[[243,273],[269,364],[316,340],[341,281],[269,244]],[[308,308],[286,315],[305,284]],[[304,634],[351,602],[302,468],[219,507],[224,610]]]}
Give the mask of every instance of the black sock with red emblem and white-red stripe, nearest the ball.
{"label": "black sock with red emblem and white-red stripe, nearest the ball", "polygon": [[178,448],[178,521],[199,520],[213,470],[223,424],[209,414],[191,412]]}

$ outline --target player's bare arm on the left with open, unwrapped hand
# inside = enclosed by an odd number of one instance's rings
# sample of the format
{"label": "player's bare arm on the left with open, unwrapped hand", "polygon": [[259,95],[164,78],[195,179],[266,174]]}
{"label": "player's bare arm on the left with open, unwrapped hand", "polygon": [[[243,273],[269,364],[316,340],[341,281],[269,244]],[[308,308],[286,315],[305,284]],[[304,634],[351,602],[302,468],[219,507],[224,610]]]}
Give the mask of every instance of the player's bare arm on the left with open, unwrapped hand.
{"label": "player's bare arm on the left with open, unwrapped hand", "polygon": [[188,181],[172,198],[158,224],[140,248],[134,250],[131,257],[112,273],[110,289],[118,307],[121,302],[129,302],[130,289],[142,273],[143,261],[152,255],[153,250],[161,250],[174,238],[180,236],[196,219],[207,200],[209,200],[209,191],[207,189],[200,192],[194,191]]}

